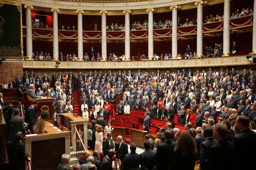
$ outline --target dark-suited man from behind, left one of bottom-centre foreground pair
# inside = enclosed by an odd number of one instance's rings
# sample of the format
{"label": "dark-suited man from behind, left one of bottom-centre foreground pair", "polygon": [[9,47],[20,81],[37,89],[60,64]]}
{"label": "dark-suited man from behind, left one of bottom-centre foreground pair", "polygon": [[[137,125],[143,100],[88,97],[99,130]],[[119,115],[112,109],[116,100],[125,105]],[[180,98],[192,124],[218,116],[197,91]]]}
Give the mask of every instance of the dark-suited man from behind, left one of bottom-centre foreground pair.
{"label": "dark-suited man from behind, left one of bottom-centre foreground pair", "polygon": [[130,145],[131,153],[124,157],[124,170],[140,170],[140,155],[136,153],[136,144]]}

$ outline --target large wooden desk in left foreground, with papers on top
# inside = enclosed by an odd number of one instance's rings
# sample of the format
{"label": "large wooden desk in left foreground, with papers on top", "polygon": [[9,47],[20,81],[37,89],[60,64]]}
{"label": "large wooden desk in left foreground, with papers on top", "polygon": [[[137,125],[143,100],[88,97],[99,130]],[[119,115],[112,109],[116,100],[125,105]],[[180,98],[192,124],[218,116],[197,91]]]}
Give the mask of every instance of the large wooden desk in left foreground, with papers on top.
{"label": "large wooden desk in left foreground, with papers on top", "polygon": [[[24,137],[26,144],[26,154],[29,154],[31,169],[54,170],[60,162],[61,155],[70,154],[70,133],[61,124],[57,124],[57,131],[50,126],[53,121],[47,121],[44,134]],[[26,167],[26,169],[28,169]]]}

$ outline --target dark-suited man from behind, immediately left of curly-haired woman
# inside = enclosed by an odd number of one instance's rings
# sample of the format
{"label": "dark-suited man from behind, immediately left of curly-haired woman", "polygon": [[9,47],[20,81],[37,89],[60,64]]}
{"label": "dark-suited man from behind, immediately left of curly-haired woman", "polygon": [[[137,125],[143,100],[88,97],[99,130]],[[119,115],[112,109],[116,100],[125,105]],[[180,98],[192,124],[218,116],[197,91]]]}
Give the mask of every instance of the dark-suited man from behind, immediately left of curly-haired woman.
{"label": "dark-suited man from behind, immediately left of curly-haired woman", "polygon": [[170,130],[164,131],[164,143],[159,144],[156,150],[157,169],[169,169],[174,161],[174,147],[176,143],[171,141],[173,134]]}

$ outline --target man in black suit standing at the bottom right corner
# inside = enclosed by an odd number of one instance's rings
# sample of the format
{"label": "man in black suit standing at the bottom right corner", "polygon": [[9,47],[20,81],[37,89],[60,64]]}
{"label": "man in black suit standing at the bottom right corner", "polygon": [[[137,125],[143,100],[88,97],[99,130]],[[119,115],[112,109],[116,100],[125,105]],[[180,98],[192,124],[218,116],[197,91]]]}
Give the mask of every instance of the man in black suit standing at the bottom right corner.
{"label": "man in black suit standing at the bottom right corner", "polygon": [[[251,155],[256,152],[256,134],[249,129],[250,121],[245,115],[240,115],[236,118],[236,127],[240,131],[236,137],[234,137],[233,144],[235,144],[236,155]],[[245,162],[254,162],[253,156],[244,156],[235,162],[237,169],[251,169],[251,164],[245,164]]]}

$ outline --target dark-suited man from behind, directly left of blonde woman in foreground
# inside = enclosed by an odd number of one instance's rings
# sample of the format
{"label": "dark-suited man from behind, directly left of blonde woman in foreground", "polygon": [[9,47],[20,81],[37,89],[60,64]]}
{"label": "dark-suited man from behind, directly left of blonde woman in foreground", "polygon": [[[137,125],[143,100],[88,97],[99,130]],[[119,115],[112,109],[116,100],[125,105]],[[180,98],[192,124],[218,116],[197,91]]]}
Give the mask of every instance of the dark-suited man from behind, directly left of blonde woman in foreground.
{"label": "dark-suited man from behind, directly left of blonde woman in foreground", "polygon": [[[143,143],[145,152],[140,154],[141,169],[156,169],[156,152],[150,150],[150,142],[144,141]],[[158,167],[157,167],[158,169]]]}

